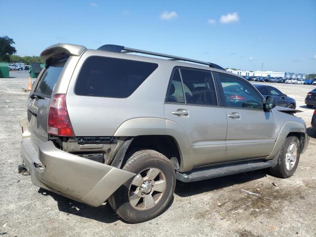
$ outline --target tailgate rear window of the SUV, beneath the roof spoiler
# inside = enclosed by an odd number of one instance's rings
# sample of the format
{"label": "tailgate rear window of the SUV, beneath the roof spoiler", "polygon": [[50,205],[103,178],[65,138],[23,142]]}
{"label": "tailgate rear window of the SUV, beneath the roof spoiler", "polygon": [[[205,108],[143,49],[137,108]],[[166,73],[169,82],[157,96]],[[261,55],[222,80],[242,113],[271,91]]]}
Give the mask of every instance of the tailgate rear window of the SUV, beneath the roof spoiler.
{"label": "tailgate rear window of the SUV, beneath the roof spoiler", "polygon": [[46,69],[40,77],[39,84],[35,90],[36,93],[46,97],[51,96],[51,92],[54,89],[57,79],[59,78],[61,70],[63,70],[67,59],[68,58],[63,58],[46,66]]}

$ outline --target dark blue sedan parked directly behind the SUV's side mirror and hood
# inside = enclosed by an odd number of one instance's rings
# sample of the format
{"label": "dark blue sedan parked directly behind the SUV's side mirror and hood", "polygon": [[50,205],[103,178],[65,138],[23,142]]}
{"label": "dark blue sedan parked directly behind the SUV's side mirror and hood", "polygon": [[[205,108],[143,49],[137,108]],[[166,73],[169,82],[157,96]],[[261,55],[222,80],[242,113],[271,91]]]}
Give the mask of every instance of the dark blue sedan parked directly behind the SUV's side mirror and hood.
{"label": "dark blue sedan parked directly behind the SUV's side mirror and hood", "polygon": [[296,101],[295,99],[283,94],[281,91],[276,89],[271,85],[264,85],[264,84],[253,84],[259,92],[264,96],[272,96],[276,99],[276,105],[281,107],[287,107],[291,109],[296,108]]}

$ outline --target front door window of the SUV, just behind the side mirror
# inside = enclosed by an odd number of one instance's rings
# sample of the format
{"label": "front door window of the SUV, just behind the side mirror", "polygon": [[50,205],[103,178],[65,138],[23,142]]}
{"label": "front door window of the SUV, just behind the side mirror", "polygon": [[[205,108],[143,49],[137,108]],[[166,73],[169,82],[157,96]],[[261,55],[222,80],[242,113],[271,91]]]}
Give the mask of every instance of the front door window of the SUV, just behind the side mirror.
{"label": "front door window of the SUV, just behind the side mirror", "polygon": [[229,76],[219,75],[227,107],[263,109],[262,98],[248,83]]}

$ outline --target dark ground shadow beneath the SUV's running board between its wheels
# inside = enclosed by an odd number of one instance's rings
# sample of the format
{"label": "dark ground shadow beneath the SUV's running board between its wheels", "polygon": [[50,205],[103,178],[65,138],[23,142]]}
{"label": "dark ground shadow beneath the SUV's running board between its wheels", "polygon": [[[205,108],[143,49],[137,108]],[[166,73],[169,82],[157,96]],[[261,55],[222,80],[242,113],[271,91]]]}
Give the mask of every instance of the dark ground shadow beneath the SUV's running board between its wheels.
{"label": "dark ground shadow beneath the SUV's running board between its wheels", "polygon": [[208,179],[192,183],[177,181],[175,194],[180,197],[189,197],[217,189],[226,188],[235,184],[241,184],[267,176],[267,170],[256,170],[246,173],[234,174],[214,179]]}

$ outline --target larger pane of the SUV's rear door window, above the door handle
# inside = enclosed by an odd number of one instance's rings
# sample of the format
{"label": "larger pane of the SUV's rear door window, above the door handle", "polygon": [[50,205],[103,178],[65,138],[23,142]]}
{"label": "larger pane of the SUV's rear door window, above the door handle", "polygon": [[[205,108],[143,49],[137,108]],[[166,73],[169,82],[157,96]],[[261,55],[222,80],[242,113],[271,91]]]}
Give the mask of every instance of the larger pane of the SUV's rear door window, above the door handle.
{"label": "larger pane of the SUV's rear door window, above the door handle", "polygon": [[181,69],[187,104],[217,105],[211,73]]}

